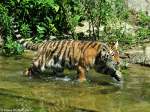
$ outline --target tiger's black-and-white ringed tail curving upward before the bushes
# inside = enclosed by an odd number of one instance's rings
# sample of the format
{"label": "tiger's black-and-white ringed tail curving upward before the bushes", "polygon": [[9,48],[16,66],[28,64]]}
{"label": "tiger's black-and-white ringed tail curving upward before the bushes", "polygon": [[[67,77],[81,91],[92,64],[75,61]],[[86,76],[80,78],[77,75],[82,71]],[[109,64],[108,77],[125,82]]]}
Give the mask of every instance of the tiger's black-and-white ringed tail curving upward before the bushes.
{"label": "tiger's black-and-white ringed tail curving upward before the bushes", "polygon": [[33,51],[37,51],[39,48],[39,44],[33,43],[31,40],[27,40],[22,38],[22,35],[19,33],[19,26],[17,22],[12,22],[12,29],[13,29],[13,33],[14,36],[16,37],[16,40],[18,43],[20,43],[24,48],[29,49],[29,50],[33,50]]}

